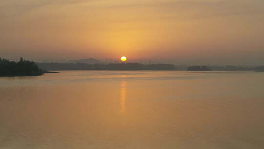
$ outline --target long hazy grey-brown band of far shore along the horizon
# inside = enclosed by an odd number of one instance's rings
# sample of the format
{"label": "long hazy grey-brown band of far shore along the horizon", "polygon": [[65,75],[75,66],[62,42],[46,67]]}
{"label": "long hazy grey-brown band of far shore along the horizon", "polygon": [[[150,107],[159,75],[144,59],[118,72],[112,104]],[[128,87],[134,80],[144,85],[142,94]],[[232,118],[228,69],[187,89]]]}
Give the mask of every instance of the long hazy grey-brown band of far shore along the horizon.
{"label": "long hazy grey-brown band of far shore along the horizon", "polygon": [[264,66],[175,66],[172,64],[140,64],[140,63],[36,63],[41,69],[48,71],[264,71]]}

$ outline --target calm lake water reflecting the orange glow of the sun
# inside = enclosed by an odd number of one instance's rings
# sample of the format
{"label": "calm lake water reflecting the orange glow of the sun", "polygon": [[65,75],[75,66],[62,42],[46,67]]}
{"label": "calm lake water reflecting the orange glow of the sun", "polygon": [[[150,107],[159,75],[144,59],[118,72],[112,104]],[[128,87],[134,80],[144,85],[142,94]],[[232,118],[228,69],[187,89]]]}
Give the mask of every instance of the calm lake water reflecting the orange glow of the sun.
{"label": "calm lake water reflecting the orange glow of the sun", "polygon": [[264,73],[1,77],[0,149],[264,149]]}

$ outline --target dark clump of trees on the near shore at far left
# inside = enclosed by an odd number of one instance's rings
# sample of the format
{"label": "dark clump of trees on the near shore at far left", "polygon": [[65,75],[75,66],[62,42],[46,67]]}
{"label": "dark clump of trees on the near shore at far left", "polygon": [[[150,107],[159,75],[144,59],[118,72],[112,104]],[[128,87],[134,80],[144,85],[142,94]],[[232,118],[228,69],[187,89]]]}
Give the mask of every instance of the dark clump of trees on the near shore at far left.
{"label": "dark clump of trees on the near shore at far left", "polygon": [[19,62],[0,58],[0,76],[37,76],[43,73],[34,62],[23,60],[22,57]]}

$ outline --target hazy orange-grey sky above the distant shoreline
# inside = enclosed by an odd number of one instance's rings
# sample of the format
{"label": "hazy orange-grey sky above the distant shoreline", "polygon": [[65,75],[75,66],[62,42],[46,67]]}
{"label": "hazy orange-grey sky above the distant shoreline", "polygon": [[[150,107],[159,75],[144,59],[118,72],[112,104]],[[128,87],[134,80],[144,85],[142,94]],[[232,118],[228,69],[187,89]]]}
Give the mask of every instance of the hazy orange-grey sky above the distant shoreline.
{"label": "hazy orange-grey sky above the distant shoreline", "polygon": [[0,57],[264,64],[264,0],[1,0]]}

